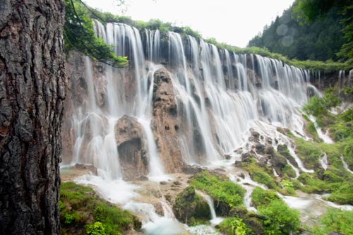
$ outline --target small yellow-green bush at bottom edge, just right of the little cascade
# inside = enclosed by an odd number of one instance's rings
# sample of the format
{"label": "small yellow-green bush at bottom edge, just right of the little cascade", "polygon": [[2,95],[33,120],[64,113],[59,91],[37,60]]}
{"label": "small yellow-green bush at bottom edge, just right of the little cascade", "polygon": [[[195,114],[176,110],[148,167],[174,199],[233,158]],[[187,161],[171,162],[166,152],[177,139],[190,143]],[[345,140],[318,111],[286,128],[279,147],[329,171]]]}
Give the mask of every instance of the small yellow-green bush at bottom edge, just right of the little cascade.
{"label": "small yellow-green bush at bottom edge, just right of the little cascade", "polygon": [[230,217],[223,220],[220,224],[220,231],[229,235],[247,235],[252,234],[251,230],[238,217]]}

